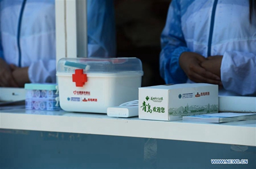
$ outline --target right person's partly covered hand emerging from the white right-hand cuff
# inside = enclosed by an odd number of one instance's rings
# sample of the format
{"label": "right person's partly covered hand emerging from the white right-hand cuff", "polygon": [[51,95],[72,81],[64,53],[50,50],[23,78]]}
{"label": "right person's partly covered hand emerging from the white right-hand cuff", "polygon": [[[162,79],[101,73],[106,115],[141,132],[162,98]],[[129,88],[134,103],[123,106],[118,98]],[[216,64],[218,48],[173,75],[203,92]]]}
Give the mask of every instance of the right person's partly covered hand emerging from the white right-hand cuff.
{"label": "right person's partly covered hand emerging from the white right-hand cuff", "polygon": [[221,77],[222,58],[223,58],[223,55],[208,57],[206,61],[203,61],[201,63],[201,66],[207,71],[210,71],[211,73],[214,73],[217,76]]}

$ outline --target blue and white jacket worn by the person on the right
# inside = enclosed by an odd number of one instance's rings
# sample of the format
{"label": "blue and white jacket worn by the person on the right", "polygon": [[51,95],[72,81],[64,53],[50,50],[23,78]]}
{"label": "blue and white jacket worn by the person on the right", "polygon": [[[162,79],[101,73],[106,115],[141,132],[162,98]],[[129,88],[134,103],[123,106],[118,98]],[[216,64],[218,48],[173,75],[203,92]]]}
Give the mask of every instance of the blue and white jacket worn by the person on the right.
{"label": "blue and white jacket worn by the person on the right", "polygon": [[256,17],[249,22],[248,2],[173,0],[161,35],[160,72],[165,82],[193,82],[179,65],[184,51],[223,55],[224,89],[219,94],[256,96]]}

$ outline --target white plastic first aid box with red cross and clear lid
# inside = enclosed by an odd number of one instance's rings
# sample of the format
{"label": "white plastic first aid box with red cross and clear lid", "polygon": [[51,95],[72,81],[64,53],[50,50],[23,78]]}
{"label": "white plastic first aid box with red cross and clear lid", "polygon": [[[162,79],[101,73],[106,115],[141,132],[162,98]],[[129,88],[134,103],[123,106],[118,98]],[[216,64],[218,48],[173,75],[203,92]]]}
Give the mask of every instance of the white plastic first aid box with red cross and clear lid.
{"label": "white plastic first aid box with red cross and clear lid", "polygon": [[143,71],[137,58],[63,58],[56,75],[63,110],[106,114],[108,107],[138,100]]}

